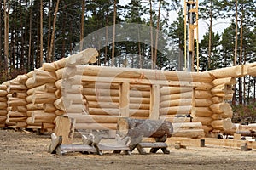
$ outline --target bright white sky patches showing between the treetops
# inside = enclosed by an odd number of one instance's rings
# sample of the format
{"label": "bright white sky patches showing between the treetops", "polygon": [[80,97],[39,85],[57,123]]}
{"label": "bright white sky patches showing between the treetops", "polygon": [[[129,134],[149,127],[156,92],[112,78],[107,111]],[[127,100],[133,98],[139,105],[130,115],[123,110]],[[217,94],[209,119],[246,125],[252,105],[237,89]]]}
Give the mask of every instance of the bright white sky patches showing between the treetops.
{"label": "bright white sky patches showing between the treetops", "polygon": [[[130,3],[131,0],[119,0],[119,3],[120,4],[126,4],[126,3]],[[199,3],[201,3],[202,0],[199,0]],[[180,2],[182,5],[184,3],[184,1],[182,0]],[[170,24],[177,19],[177,11],[172,11],[171,14],[170,14]],[[218,23],[218,24],[217,24]],[[212,31],[214,32],[218,32],[219,34],[221,34],[224,29],[226,27],[228,27],[230,25],[230,20],[229,19],[226,19],[226,20],[216,20],[214,23],[213,23],[213,27],[212,27]],[[208,26],[207,26],[207,22],[205,20],[201,20],[200,19],[200,16],[199,16],[199,39],[201,40],[203,35],[206,34],[206,32],[208,31]]]}

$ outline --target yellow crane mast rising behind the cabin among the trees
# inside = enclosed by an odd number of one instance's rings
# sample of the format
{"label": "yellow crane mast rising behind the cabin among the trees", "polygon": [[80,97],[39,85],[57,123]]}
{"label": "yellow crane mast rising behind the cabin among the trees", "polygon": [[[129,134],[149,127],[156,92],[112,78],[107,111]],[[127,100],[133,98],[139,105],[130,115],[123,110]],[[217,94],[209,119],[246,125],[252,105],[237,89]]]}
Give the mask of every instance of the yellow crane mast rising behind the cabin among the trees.
{"label": "yellow crane mast rising behind the cabin among the trees", "polygon": [[[196,36],[195,36],[196,31]],[[198,0],[184,1],[184,70],[194,71],[195,40],[196,67],[199,71]]]}

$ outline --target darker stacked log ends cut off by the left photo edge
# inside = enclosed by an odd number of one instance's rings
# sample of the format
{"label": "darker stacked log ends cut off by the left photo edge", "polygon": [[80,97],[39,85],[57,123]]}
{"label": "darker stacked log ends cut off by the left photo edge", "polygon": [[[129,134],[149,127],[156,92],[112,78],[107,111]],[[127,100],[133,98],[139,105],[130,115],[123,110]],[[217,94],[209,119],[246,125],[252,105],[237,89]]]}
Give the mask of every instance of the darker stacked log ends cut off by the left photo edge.
{"label": "darker stacked log ends cut off by the left photo edge", "polygon": [[7,86],[0,85],[0,127],[5,127],[7,119]]}

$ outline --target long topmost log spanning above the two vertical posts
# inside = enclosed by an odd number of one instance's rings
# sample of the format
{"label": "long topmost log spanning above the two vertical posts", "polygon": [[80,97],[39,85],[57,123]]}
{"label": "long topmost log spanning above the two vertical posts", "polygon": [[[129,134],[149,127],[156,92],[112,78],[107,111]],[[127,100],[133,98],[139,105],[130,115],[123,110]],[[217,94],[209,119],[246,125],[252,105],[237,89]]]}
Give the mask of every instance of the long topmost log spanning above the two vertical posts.
{"label": "long topmost log spanning above the two vertical posts", "polygon": [[110,68],[97,66],[84,66],[84,75],[101,77],[124,77],[137,80],[172,80],[172,81],[194,81],[212,82],[212,76],[206,72],[199,74],[183,71],[160,71],[131,68]]}

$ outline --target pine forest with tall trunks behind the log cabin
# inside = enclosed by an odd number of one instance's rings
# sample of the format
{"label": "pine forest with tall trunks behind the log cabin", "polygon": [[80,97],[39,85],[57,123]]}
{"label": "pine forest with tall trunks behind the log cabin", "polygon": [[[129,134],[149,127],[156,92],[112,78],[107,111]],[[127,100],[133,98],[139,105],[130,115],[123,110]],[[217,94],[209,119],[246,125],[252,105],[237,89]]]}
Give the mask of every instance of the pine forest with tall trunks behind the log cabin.
{"label": "pine forest with tall trunks behind the log cabin", "polygon": [[[179,0],[1,0],[0,83],[74,54],[78,47],[97,48],[99,66],[183,71],[181,4]],[[255,7],[255,0],[200,1],[199,16],[208,30],[199,44],[200,71],[256,62]],[[225,19],[229,26],[213,32]],[[125,23],[133,24],[130,31]],[[137,41],[122,35],[127,31],[136,32]],[[116,42],[119,37],[123,41]],[[256,122],[256,77],[237,82],[234,121]]]}

